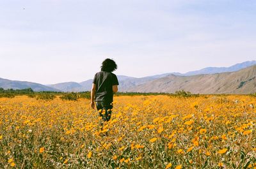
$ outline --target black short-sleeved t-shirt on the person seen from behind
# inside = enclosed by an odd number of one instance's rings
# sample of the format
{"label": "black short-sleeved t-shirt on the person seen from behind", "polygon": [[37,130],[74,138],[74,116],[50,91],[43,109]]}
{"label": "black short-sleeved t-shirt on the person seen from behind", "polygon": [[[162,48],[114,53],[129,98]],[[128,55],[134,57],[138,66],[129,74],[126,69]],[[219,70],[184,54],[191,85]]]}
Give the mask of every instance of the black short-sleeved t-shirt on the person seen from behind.
{"label": "black short-sleeved t-shirt on the person seen from behind", "polygon": [[118,85],[117,77],[114,73],[100,71],[95,74],[93,84],[96,85],[95,101],[105,103],[113,102],[113,85]]}

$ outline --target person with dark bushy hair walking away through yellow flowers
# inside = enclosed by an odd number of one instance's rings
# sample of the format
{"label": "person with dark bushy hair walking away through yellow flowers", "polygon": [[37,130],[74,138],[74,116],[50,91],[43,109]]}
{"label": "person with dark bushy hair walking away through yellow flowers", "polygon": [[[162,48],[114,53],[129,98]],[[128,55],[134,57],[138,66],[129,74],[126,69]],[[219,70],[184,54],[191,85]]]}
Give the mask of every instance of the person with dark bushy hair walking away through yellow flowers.
{"label": "person with dark bushy hair walking away through yellow flowers", "polygon": [[111,110],[113,108],[113,92],[118,91],[118,80],[113,71],[117,69],[115,61],[105,59],[100,67],[101,71],[95,74],[93,78],[91,91],[91,107],[95,107],[99,111],[102,120],[109,121],[111,118]]}

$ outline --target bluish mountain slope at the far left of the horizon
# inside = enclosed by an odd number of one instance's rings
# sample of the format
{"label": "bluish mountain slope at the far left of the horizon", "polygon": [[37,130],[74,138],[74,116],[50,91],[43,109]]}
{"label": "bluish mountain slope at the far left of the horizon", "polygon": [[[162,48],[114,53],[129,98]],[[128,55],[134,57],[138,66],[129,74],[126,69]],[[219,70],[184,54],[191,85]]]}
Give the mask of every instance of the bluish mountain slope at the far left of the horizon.
{"label": "bluish mountain slope at the far left of the horizon", "polygon": [[33,82],[23,82],[17,80],[8,80],[4,78],[0,78],[0,87],[3,87],[3,89],[26,89],[31,87],[33,91],[59,91],[58,89],[54,89],[52,87],[48,87],[42,84],[36,84]]}

